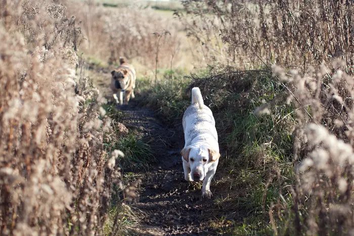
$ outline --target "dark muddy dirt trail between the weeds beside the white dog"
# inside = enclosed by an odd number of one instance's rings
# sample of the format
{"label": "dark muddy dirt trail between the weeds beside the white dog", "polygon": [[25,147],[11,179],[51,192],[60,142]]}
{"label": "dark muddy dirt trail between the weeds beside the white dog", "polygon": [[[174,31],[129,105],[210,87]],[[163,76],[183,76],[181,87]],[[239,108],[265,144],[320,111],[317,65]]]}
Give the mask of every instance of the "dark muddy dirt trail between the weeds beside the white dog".
{"label": "dark muddy dirt trail between the weeds beside the white dog", "polygon": [[[119,109],[119,108],[118,108]],[[143,131],[156,156],[157,163],[141,173],[143,190],[138,203],[132,205],[141,216],[140,226],[132,233],[139,235],[214,235],[208,225],[214,207],[212,199],[200,199],[197,183],[184,179],[180,150],[184,146],[182,124],[166,128],[149,108],[131,101],[121,109],[123,123]],[[213,186],[212,186],[213,188]]]}

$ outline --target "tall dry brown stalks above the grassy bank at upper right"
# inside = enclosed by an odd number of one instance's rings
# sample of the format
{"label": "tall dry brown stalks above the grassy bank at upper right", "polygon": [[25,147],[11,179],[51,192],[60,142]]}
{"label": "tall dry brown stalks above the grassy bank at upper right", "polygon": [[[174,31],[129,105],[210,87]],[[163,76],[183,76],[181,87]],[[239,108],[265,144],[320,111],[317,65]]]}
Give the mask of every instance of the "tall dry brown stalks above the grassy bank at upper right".
{"label": "tall dry brown stalks above the grassy bank at upper right", "polygon": [[[298,68],[341,58],[352,68],[352,3],[340,1],[183,1],[188,33],[207,60],[257,68]],[[223,44],[223,43],[225,44]]]}

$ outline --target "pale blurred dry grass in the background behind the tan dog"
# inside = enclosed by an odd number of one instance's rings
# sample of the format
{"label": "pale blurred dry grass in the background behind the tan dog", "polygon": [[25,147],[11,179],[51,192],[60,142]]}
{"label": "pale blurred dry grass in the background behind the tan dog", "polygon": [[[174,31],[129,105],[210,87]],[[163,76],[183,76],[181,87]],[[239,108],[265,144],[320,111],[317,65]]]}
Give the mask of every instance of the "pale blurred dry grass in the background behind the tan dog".
{"label": "pale blurred dry grass in the background behind the tan dog", "polygon": [[[155,66],[158,52],[158,67],[169,67],[170,49],[185,40],[180,33],[178,20],[157,14],[152,8],[141,8],[132,4],[124,8],[105,8],[94,2],[77,3],[68,1],[68,11],[81,21],[81,30],[86,40],[80,50],[108,64],[117,65],[124,56],[130,62],[144,65],[144,70]],[[156,46],[156,33],[168,31]],[[155,34],[154,34],[155,33]],[[186,45],[188,47],[188,45]],[[189,50],[184,46],[182,50]],[[175,62],[184,55],[175,55]]]}

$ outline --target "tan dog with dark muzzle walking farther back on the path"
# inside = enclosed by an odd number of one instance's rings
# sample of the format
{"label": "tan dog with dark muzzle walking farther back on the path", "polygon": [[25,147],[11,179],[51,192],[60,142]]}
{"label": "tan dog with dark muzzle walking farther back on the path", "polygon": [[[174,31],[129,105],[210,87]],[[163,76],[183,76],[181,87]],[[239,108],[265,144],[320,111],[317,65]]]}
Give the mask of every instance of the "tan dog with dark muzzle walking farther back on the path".
{"label": "tan dog with dark muzzle walking farther back on the path", "polygon": [[[112,79],[110,88],[112,89],[115,101],[122,105],[128,104],[130,97],[135,98],[134,88],[137,75],[134,67],[126,63],[124,58],[119,58],[119,62],[120,66],[111,72]],[[124,103],[123,93],[125,93]],[[119,94],[119,100],[117,94]]]}

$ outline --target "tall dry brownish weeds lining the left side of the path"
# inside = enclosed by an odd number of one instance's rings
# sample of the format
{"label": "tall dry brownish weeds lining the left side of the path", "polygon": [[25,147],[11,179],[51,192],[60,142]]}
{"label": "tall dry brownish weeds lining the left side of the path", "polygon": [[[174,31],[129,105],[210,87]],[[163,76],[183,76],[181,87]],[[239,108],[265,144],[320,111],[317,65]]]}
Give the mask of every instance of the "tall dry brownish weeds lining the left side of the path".
{"label": "tall dry brownish weeds lining the left side of the path", "polygon": [[0,9],[1,234],[122,232],[127,208],[109,212],[113,196],[122,203],[115,160],[123,154],[104,147],[117,133],[105,99],[80,73],[75,17],[47,2],[2,1]]}

